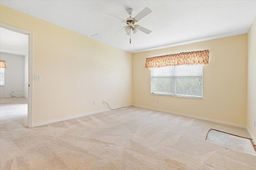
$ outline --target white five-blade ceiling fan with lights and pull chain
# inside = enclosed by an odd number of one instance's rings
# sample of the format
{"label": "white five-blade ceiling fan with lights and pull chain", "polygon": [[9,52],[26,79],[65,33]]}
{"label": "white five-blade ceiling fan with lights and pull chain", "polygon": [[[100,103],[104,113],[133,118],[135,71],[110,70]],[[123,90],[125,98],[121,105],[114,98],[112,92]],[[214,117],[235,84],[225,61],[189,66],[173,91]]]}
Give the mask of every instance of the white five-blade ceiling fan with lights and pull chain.
{"label": "white five-blade ceiling fan with lights and pull chain", "polygon": [[[137,21],[141,20],[142,18],[144,18],[145,16],[150,14],[150,12],[152,12],[148,7],[144,8],[144,10],[142,10],[134,18],[131,17],[131,15],[134,11],[132,8],[129,8],[126,11],[130,15],[130,17],[126,18],[126,20],[123,20],[123,19],[119,18],[120,20],[122,20],[121,22],[124,22],[124,23],[127,24],[126,26],[122,27],[119,31],[124,29],[126,34],[130,35],[130,43],[131,43],[131,31],[133,32],[133,34],[136,34],[138,32],[138,30],[140,30],[140,31],[142,31],[146,34],[151,33],[151,31],[149,29],[146,29],[145,27],[142,27],[140,25],[135,24]],[[106,14],[108,14],[108,13],[106,13]],[[111,14],[108,14],[108,15],[113,16]],[[113,17],[116,17],[116,16],[113,16]],[[118,17],[116,17],[116,18],[118,18]],[[119,31],[117,31],[116,33],[118,33]]]}

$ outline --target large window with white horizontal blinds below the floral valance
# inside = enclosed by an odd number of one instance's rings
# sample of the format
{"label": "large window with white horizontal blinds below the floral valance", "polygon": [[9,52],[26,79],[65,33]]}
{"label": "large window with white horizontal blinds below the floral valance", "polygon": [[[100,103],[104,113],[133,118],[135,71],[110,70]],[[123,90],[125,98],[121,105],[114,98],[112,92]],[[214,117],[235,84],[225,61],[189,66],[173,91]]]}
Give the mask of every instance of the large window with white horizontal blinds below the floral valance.
{"label": "large window with white horizontal blinds below the floral valance", "polygon": [[151,94],[203,98],[203,65],[151,68]]}

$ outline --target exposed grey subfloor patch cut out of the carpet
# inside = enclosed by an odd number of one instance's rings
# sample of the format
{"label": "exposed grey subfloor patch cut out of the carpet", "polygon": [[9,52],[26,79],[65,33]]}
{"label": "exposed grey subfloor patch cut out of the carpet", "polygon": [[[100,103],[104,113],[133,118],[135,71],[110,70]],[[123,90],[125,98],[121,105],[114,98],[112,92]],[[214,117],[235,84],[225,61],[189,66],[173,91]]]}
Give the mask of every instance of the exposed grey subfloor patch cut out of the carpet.
{"label": "exposed grey subfloor patch cut out of the carpet", "polygon": [[252,139],[210,129],[206,136],[206,140],[238,152],[244,152],[256,156],[256,150]]}

